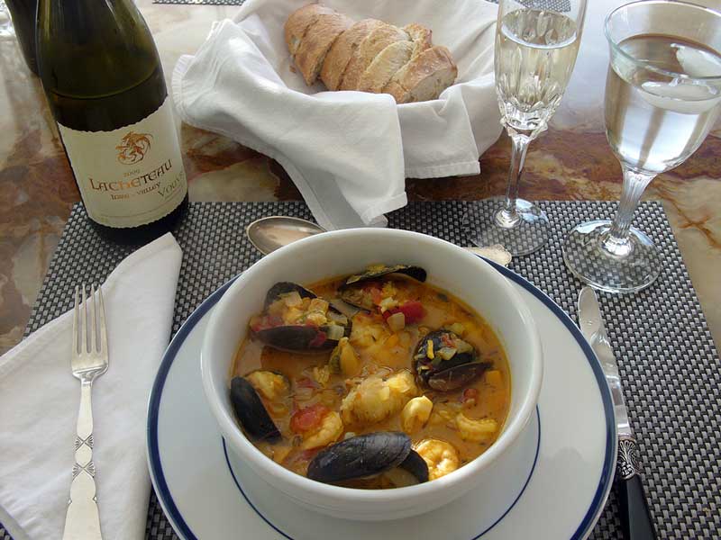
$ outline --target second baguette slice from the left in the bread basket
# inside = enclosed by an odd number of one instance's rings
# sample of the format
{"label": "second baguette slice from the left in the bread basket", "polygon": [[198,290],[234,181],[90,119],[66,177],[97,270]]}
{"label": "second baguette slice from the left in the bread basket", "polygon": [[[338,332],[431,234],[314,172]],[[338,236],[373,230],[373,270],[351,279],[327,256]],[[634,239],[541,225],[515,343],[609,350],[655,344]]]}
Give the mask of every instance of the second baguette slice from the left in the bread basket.
{"label": "second baguette slice from the left in the bread basket", "polygon": [[321,14],[306,30],[296,52],[296,66],[306,79],[306,85],[315,83],[333,41],[351,28],[352,24],[352,19],[343,14]]}

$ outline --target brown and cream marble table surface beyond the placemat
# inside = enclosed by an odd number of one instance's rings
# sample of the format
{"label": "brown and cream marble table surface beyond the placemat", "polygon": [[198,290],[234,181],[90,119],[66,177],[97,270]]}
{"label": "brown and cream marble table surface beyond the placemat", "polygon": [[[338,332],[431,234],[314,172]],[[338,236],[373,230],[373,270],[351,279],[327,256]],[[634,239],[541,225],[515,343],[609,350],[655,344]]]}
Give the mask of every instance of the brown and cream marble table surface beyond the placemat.
{"label": "brown and cream marble table surface beyond the placemat", "polygon": [[[696,0],[713,3],[717,0]],[[215,20],[237,7],[138,0],[166,77]],[[529,199],[613,200],[621,171],[603,129],[607,45],[602,25],[620,0],[589,2],[580,56],[550,129],[534,141],[521,194]],[[710,5],[710,4],[709,4]],[[300,199],[281,166],[233,140],[179,126],[191,201]],[[411,200],[475,200],[504,193],[506,135],[480,159],[479,175],[408,179]],[[709,327],[721,344],[721,124],[689,160],[653,180],[646,199],[663,202]],[[41,85],[14,40],[0,40],[0,353],[23,336],[53,250],[79,194]]]}

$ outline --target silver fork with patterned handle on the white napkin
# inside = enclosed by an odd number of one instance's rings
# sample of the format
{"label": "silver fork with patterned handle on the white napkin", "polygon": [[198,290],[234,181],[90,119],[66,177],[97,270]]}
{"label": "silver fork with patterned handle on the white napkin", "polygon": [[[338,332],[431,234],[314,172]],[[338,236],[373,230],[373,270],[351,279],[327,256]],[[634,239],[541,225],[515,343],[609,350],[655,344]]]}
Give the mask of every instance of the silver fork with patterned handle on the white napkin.
{"label": "silver fork with patterned handle on the white napkin", "polygon": [[[105,303],[103,291],[97,289],[100,303],[96,304],[96,287],[90,286],[86,299],[86,286],[75,288],[73,313],[73,347],[71,367],[80,380],[80,411],[75,438],[75,465],[70,483],[68,512],[65,515],[63,540],[101,540],[100,516],[96,500],[96,466],[93,463],[93,409],[90,394],[93,381],[107,371],[107,331],[105,329]],[[88,317],[87,304],[91,304]],[[99,320],[99,324],[98,324]],[[89,325],[89,329],[88,329]]]}

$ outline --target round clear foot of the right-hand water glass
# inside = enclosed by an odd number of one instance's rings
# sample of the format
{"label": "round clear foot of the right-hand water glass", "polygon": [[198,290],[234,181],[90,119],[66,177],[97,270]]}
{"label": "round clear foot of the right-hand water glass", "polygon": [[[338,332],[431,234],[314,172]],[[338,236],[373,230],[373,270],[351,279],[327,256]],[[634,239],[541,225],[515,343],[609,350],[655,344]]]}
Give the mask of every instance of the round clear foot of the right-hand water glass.
{"label": "round clear foot of the right-hand water glass", "polygon": [[607,293],[635,293],[659,276],[662,255],[639,229],[632,227],[628,242],[616,254],[601,248],[610,220],[588,221],[572,229],[563,242],[563,261],[573,275]]}

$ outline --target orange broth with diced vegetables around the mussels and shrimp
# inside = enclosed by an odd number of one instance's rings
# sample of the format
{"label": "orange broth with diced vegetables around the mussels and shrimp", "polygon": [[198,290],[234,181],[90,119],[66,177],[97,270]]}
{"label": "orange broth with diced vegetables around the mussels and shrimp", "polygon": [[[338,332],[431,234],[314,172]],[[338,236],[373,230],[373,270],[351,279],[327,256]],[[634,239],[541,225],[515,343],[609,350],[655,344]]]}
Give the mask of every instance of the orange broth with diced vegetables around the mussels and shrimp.
{"label": "orange broth with diced vegetables around the mussels and shrimp", "polygon": [[[308,289],[332,301],[338,297],[338,289],[343,281],[344,278],[324,280],[310,284]],[[349,342],[359,361],[356,374],[328,373],[331,353],[327,351],[311,355],[290,353],[265,346],[251,336],[243,339],[233,362],[232,377],[263,370],[283,374],[290,382],[289,393],[280,399],[268,400],[259,392],[270,418],[282,436],[274,444],[253,442],[270,459],[295,473],[306,475],[308,463],[326,445],[304,447],[306,434],[297,432],[293,415],[298,410],[309,408],[339,411],[349,392],[369,377],[388,380],[405,370],[415,375],[412,363],[416,344],[428,332],[449,327],[462,331],[462,340],[475,347],[483,362],[489,363],[488,369],[479,378],[451,392],[430,389],[419,384],[416,378],[416,392],[411,391],[408,395],[426,396],[433,401],[433,410],[422,426],[418,427],[416,422],[415,429],[407,429],[401,410],[395,410],[387,418],[375,422],[359,420],[353,416],[352,409],[341,410],[342,433],[334,441],[341,441],[349,434],[404,431],[406,427],[406,432],[410,431],[408,435],[414,448],[428,439],[450,443],[455,448],[460,467],[483,454],[496,440],[510,406],[510,373],[506,353],[493,329],[460,300],[432,285],[396,275],[380,280],[380,286],[385,284],[391,284],[391,290],[395,291],[394,297],[403,299],[403,302],[420,302],[424,316],[417,323],[407,324],[396,332],[389,328],[388,322],[378,311],[360,311],[353,316]],[[405,398],[403,401],[407,402]],[[470,437],[468,430],[463,431],[459,425],[459,413],[472,421],[493,420],[496,429],[480,439]],[[429,464],[431,480],[452,472],[446,471],[443,466],[436,466],[439,464],[433,457],[422,457]],[[392,475],[383,474],[371,479],[342,482],[342,485],[378,489],[397,487],[398,482]]]}

